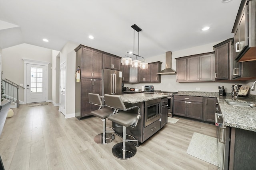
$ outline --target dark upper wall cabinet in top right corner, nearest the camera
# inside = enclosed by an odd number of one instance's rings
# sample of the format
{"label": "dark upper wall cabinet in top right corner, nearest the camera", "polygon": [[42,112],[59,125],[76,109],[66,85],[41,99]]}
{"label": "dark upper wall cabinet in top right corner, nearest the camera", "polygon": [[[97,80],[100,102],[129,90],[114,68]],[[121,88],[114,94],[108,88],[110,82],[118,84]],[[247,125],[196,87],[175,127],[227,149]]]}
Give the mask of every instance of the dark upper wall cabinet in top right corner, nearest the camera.
{"label": "dark upper wall cabinet in top right corner, nearest the camera", "polygon": [[232,33],[236,61],[256,61],[256,0],[241,1]]}

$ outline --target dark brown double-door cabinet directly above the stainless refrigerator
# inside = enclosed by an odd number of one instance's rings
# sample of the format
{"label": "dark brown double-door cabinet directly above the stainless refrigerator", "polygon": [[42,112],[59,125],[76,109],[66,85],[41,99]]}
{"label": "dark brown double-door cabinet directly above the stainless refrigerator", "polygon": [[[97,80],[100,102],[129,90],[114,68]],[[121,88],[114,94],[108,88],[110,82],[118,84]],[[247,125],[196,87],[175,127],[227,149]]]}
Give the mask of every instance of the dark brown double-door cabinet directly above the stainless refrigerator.
{"label": "dark brown double-door cabinet directly above the stainless refrigerator", "polygon": [[103,54],[103,68],[120,70],[121,58]]}

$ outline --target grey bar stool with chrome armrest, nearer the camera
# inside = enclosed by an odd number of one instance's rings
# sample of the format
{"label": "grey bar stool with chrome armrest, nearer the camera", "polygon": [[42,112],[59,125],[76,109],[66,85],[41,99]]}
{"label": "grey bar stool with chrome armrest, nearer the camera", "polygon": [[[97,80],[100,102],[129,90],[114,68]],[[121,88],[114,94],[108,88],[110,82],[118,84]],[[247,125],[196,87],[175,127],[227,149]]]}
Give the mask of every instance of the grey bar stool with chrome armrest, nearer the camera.
{"label": "grey bar stool with chrome armrest, nearer the camera", "polygon": [[[136,127],[138,120],[140,118],[140,107],[132,106],[132,107],[126,108],[120,96],[105,94],[104,98],[105,98],[106,106],[116,109],[116,113],[114,115],[109,116],[108,120],[123,126],[123,142],[117,143],[116,145],[114,145],[114,147],[112,148],[112,153],[116,158],[119,158],[119,159],[132,158],[132,156],[136,154],[137,149],[130,142],[137,141],[137,140],[126,139],[126,127],[129,127],[129,126]],[[137,114],[127,112],[128,110],[134,109],[134,108],[138,109]]]}

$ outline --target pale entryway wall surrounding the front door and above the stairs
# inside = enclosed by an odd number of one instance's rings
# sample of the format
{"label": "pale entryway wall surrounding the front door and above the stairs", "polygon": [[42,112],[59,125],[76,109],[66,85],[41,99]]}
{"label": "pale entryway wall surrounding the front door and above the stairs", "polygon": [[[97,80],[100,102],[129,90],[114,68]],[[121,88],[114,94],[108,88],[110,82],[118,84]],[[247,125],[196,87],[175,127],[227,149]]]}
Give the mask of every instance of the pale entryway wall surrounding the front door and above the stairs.
{"label": "pale entryway wall surrounding the front door and above the stairs", "polygon": [[[2,49],[3,79],[16,84],[24,84],[24,59],[49,62],[48,65],[48,100],[52,98],[52,50],[30,44],[20,44]],[[24,90],[19,89],[19,99],[24,102]],[[46,99],[47,100],[47,99]]]}

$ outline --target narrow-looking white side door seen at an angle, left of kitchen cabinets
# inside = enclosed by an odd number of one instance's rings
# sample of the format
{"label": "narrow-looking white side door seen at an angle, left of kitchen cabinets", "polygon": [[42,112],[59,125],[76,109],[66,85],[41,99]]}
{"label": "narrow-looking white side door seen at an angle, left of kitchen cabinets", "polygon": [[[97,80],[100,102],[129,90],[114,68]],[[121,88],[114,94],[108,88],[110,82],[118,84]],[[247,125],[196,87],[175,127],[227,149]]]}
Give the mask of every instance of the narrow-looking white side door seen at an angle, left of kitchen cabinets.
{"label": "narrow-looking white side door seen at an angle, left of kitchen cabinets", "polygon": [[60,107],[59,111],[66,116],[66,63],[60,65]]}

